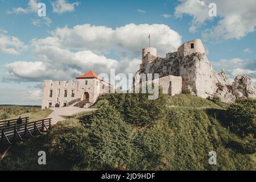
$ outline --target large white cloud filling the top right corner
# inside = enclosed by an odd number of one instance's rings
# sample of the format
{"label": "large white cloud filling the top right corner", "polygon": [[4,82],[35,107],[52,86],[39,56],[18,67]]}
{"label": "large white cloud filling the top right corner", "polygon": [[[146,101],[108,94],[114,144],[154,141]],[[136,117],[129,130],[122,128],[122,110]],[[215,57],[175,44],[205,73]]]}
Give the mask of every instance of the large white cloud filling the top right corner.
{"label": "large white cloud filling the top right corner", "polygon": [[[213,19],[208,15],[208,5],[211,0],[181,0],[175,8],[176,17],[187,14],[193,17],[189,31],[195,32],[208,20]],[[241,39],[250,32],[255,31],[256,26],[256,1],[214,1],[217,5],[218,22],[216,26],[204,30],[205,40]]]}

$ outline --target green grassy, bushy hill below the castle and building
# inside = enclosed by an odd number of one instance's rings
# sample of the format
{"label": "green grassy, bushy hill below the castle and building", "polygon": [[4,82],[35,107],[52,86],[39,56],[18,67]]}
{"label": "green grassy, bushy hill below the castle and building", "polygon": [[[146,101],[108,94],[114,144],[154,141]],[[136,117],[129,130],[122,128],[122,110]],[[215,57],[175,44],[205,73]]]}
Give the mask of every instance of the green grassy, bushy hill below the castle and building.
{"label": "green grassy, bushy hill below the castle and building", "polygon": [[[111,94],[94,113],[13,146],[0,169],[255,170],[247,140],[226,125],[227,106],[190,94],[153,101]],[[40,150],[47,152],[46,166],[37,164]],[[208,163],[209,151],[216,151],[217,165]]]}

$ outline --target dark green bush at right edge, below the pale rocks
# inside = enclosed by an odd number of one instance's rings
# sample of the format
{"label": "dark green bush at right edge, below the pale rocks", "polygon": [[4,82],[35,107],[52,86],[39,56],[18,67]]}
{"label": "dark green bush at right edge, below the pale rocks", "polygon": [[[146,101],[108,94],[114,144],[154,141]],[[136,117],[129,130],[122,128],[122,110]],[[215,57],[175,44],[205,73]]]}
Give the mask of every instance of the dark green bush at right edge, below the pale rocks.
{"label": "dark green bush at right edge, below the pale rocks", "polygon": [[234,133],[246,137],[253,134],[256,137],[256,100],[238,99],[227,110],[229,128]]}

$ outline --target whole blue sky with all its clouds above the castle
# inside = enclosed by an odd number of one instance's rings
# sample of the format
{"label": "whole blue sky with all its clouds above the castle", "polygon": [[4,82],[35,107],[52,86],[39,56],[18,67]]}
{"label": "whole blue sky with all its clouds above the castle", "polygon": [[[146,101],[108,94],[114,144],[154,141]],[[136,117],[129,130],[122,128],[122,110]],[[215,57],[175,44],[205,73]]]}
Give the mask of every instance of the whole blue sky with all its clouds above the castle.
{"label": "whole blue sky with all its clouds above the castle", "polygon": [[[208,15],[210,2],[216,17]],[[46,18],[37,3],[46,4]],[[1,0],[0,104],[40,105],[44,79],[70,80],[89,69],[135,73],[148,33],[161,56],[200,38],[217,72],[256,83],[255,12],[249,0]]]}

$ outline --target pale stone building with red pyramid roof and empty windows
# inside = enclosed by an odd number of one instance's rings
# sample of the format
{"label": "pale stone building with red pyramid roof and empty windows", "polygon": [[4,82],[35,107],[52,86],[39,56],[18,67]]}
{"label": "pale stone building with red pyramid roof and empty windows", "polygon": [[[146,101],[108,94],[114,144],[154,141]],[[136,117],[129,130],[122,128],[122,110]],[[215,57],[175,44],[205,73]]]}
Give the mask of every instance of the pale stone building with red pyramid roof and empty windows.
{"label": "pale stone building with red pyramid roof and empty windows", "polygon": [[93,71],[76,78],[71,81],[44,80],[42,109],[70,105],[89,107],[100,94],[113,92],[113,86]]}

